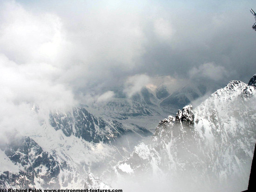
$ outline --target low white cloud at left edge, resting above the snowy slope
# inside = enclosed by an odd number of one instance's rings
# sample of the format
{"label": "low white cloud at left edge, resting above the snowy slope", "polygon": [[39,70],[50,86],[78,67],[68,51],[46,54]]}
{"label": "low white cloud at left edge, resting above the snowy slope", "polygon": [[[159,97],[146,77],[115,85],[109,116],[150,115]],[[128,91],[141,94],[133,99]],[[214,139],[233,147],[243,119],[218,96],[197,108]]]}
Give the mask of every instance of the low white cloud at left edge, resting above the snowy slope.
{"label": "low white cloud at left edge, resting above the snowy slope", "polygon": [[[54,83],[54,68],[47,64],[18,65],[0,55],[0,89],[1,103],[37,104],[43,108],[64,109],[76,104],[72,90],[66,86]],[[51,78],[47,78],[47,75]]]}

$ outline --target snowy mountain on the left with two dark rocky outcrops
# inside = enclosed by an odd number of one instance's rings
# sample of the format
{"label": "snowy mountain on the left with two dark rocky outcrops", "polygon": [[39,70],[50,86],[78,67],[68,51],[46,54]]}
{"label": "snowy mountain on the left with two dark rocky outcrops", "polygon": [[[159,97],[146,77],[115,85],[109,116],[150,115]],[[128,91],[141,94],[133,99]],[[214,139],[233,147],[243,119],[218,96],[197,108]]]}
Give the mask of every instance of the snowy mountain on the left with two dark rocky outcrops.
{"label": "snowy mountain on the left with two dark rocky outcrops", "polygon": [[[33,111],[42,116],[38,107]],[[91,172],[111,166],[152,135],[136,125],[94,117],[82,107],[46,117],[38,128],[10,133],[1,143],[1,188],[109,189]]]}

